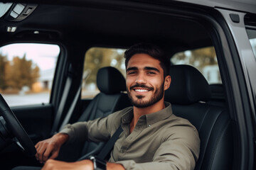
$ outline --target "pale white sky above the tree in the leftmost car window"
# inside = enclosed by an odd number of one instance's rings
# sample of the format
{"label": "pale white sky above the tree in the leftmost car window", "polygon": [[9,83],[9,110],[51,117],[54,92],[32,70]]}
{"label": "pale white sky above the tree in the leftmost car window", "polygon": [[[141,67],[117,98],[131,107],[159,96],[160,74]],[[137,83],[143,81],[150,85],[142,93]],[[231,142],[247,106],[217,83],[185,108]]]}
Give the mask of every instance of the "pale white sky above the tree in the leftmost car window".
{"label": "pale white sky above the tree in the leftmost car window", "polygon": [[41,71],[55,68],[59,53],[58,45],[22,43],[0,47],[0,54],[6,55],[9,61],[26,54],[26,60],[32,60]]}

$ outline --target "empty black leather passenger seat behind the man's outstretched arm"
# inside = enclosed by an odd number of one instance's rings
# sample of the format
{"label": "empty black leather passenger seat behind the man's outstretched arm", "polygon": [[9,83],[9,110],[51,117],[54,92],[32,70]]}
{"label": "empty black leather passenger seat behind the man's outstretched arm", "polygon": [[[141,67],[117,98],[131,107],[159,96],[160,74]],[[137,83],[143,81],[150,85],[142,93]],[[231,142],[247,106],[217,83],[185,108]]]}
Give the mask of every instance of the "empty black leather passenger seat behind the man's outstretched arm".
{"label": "empty black leather passenger seat behind the man's outstretched arm", "polygon": [[[114,67],[99,69],[97,72],[97,87],[100,90],[100,94],[93,98],[78,119],[78,122],[105,117],[115,111],[122,110],[122,108],[131,106],[127,94],[123,93],[126,91],[125,79]],[[67,145],[60,151],[58,159],[75,161],[83,155],[97,154],[103,145],[104,143],[102,142],[85,142],[82,146],[81,144]]]}

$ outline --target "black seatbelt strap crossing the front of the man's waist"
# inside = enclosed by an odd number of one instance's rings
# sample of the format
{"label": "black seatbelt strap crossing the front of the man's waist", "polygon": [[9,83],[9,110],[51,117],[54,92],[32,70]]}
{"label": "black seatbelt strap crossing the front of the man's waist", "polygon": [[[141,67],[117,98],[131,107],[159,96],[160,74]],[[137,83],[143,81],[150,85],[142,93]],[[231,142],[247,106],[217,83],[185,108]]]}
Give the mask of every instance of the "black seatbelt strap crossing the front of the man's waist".
{"label": "black seatbelt strap crossing the front of the man's waist", "polygon": [[110,140],[107,141],[106,145],[102,148],[101,152],[97,155],[98,158],[105,159],[107,157],[107,154],[113,149],[114,143],[117,141],[122,131],[122,125],[120,125],[117,131],[114,132],[114,135],[112,135]]}

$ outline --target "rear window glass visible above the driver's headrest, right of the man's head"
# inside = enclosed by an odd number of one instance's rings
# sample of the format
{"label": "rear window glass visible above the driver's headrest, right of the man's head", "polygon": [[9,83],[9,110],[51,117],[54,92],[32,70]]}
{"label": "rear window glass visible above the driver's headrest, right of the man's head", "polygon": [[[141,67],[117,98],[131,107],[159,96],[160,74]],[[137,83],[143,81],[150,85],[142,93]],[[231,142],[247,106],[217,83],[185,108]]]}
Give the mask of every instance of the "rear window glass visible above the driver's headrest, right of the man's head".
{"label": "rear window glass visible above the driver's headrest, right of the man's head", "polygon": [[178,52],[171,57],[173,64],[188,64],[199,70],[209,84],[221,84],[220,71],[214,47]]}

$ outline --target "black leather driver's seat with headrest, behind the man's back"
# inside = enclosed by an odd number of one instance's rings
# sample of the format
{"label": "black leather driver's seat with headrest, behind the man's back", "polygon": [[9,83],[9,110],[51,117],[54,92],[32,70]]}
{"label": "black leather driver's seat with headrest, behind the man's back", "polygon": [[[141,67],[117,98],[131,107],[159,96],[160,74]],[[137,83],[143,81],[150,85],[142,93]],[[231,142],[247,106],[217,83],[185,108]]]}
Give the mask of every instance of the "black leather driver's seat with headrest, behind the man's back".
{"label": "black leather driver's seat with headrest, behind the man's back", "polygon": [[198,130],[201,149],[196,170],[232,169],[233,130],[226,108],[206,103],[210,87],[197,69],[188,65],[171,66],[171,86],[165,100],[174,114],[188,119]]}

